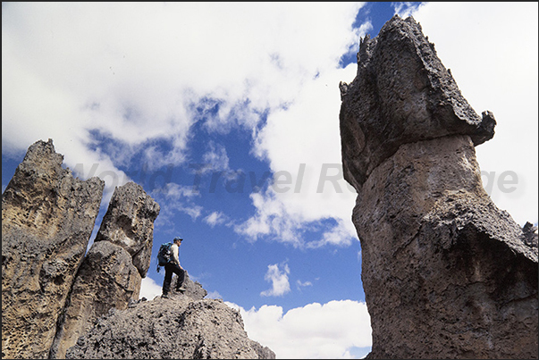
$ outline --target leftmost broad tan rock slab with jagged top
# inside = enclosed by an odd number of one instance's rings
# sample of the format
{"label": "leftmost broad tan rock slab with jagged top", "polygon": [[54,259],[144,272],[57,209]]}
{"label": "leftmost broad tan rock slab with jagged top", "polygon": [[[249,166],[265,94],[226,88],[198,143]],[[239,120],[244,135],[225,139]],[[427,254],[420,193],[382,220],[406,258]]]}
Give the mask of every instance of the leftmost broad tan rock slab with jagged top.
{"label": "leftmost broad tan rock slab with jagged top", "polygon": [[2,196],[2,357],[46,358],[101,203],[52,139],[31,145]]}

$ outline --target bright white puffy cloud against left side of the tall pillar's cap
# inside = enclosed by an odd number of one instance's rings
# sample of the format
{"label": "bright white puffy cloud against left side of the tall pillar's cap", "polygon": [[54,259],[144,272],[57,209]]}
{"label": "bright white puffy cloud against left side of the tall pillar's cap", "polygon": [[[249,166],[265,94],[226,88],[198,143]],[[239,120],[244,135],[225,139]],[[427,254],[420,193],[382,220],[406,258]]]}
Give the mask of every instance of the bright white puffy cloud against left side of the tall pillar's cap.
{"label": "bright white puffy cloud against left side of the tall pillar's cap", "polygon": [[[311,246],[331,240],[350,244],[356,238],[350,213],[357,194],[342,177],[337,86],[353,79],[356,68],[353,64],[326,69],[305,83],[293,104],[268,115],[257,134],[256,152],[269,160],[274,175],[281,176],[274,176],[274,186],[265,193],[251,196],[257,213],[237,228],[239,232],[253,240],[271,234],[302,247],[305,226],[336,219],[339,230],[330,230]],[[275,186],[276,180],[282,185]]]}

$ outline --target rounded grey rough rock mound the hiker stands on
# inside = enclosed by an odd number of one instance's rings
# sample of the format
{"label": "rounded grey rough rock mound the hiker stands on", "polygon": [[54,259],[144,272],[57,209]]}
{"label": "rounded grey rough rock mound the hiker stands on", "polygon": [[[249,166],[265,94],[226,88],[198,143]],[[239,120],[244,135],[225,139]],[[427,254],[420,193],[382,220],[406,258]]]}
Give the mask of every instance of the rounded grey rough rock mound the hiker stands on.
{"label": "rounded grey rough rock mound the hiker stands on", "polygon": [[[266,356],[266,357],[259,357]],[[222,300],[173,294],[112,310],[67,350],[66,358],[275,358],[248,339],[240,313]]]}

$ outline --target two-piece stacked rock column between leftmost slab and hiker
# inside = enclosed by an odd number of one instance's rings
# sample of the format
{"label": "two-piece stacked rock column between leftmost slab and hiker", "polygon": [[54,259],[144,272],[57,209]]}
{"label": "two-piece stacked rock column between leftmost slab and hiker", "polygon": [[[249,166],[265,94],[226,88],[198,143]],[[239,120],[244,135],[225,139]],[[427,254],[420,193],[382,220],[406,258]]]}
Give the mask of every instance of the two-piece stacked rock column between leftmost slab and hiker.
{"label": "two-piece stacked rock column between leftmost slab and hiker", "polygon": [[80,266],[58,322],[50,358],[63,358],[65,350],[111,308],[123,310],[130,301],[139,299],[159,210],[156,201],[134,182],[114,189],[96,240]]}

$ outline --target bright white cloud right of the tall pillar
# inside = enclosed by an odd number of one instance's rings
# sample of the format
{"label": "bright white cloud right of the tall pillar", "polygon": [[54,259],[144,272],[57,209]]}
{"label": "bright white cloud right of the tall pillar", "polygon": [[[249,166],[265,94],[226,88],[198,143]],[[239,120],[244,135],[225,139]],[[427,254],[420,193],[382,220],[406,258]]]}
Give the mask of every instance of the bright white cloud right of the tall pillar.
{"label": "bright white cloud right of the tall pillar", "polygon": [[[476,147],[477,160],[494,203],[520,225],[537,222],[539,208],[538,10],[537,3],[463,2],[412,13],[470,105],[494,113],[496,134]],[[517,184],[504,185],[513,173]]]}

